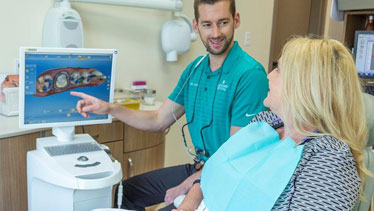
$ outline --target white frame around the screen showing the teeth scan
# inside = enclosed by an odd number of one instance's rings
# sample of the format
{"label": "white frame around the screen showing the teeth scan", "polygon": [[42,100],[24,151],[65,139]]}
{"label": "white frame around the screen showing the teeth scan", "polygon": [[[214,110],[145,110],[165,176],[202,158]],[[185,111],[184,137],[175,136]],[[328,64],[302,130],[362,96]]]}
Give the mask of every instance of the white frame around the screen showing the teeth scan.
{"label": "white frame around the screen showing the teeth scan", "polygon": [[90,49],[90,48],[45,48],[45,47],[20,47],[19,51],[19,128],[35,129],[35,128],[52,128],[52,127],[69,127],[77,125],[93,125],[105,124],[112,122],[112,116],[108,114],[106,119],[99,120],[84,120],[71,122],[57,122],[57,123],[37,123],[25,124],[25,55],[26,53],[40,53],[40,54],[58,54],[58,53],[72,53],[72,54],[112,54],[112,70],[110,82],[109,102],[113,102],[114,85],[115,85],[115,69],[118,51],[116,49]]}

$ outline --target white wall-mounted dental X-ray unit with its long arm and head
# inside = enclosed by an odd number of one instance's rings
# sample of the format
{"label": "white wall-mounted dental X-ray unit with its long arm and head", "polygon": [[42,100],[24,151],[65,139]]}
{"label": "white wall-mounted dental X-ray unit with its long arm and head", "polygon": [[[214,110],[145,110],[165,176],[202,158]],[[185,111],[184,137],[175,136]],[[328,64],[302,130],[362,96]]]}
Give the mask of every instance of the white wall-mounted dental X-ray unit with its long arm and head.
{"label": "white wall-mounted dental X-ray unit with its long arm and head", "polygon": [[181,0],[56,0],[48,10],[43,27],[43,46],[45,47],[83,47],[83,26],[77,11],[70,2],[110,4],[174,12],[181,20],[171,20],[162,27],[161,42],[167,61],[177,61],[177,55],[190,49],[191,41],[196,40],[191,20],[180,11]]}

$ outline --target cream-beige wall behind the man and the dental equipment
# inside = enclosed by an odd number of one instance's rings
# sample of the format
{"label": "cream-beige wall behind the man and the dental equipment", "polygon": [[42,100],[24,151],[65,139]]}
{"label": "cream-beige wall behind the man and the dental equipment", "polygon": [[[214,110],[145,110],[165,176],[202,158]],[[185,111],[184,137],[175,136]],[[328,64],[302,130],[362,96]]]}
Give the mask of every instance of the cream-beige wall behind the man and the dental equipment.
{"label": "cream-beige wall behind the man and the dental equipment", "polygon": [[[0,73],[12,72],[19,46],[40,46],[44,16],[54,1],[4,1],[0,8]],[[157,90],[159,101],[167,99],[187,64],[205,53],[200,39],[178,62],[167,63],[161,49],[162,24],[171,12],[109,5],[73,3],[83,20],[85,47],[116,48],[119,51],[116,87],[127,88],[133,80],[147,80]],[[183,12],[193,17],[193,1],[184,0]],[[236,39],[243,46],[244,32],[251,32],[251,45],[244,50],[266,66],[268,64],[273,1],[237,0],[242,24]],[[184,123],[182,118],[180,124]],[[180,126],[174,125],[167,135],[166,165],[191,159],[183,148]]]}

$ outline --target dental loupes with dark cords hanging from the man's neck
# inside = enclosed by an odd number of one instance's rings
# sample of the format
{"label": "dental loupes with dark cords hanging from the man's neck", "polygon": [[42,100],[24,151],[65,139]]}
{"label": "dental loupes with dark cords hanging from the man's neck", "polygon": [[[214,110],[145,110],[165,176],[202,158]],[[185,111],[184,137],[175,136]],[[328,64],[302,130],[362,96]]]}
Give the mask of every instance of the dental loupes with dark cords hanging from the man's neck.
{"label": "dental loupes with dark cords hanging from the man's neck", "polygon": [[[179,91],[179,93],[177,94],[176,98],[174,101],[176,101],[176,99],[178,99],[181,91],[183,90],[184,86],[187,84],[187,82],[189,81],[189,79],[191,78],[192,74],[196,71],[196,69],[199,67],[199,65],[201,64],[201,62],[205,59],[205,57],[207,57],[208,54],[206,54],[205,56],[203,56],[195,65],[193,71],[191,71],[190,75],[188,76],[187,80],[185,81],[185,83],[183,84],[181,90]],[[196,101],[197,101],[197,96],[198,96],[198,93],[199,93],[199,87],[200,87],[200,82],[201,82],[201,77],[203,75],[203,72],[204,71],[201,71],[200,73],[200,76],[199,76],[199,82],[198,82],[198,86],[197,86],[197,89],[196,89],[196,93],[195,93],[195,99],[194,99],[194,103],[193,103],[193,110],[192,110],[192,117],[190,119],[190,121],[188,121],[187,123],[185,123],[182,127],[181,127],[181,132],[182,132],[182,138],[183,138],[183,143],[184,143],[184,146],[186,148],[186,151],[193,157],[195,157],[197,160],[200,160],[199,159],[199,156],[201,155],[204,155],[205,157],[210,157],[210,154],[207,150],[207,147],[206,147],[206,143],[205,143],[205,140],[204,140],[204,130],[209,128],[212,124],[213,124],[213,117],[214,117],[214,102],[215,102],[215,99],[216,99],[216,96],[217,96],[217,90],[218,90],[218,85],[219,85],[219,82],[221,80],[221,77],[222,77],[222,72],[223,70],[221,70],[220,72],[218,72],[219,74],[219,77],[218,77],[218,80],[217,80],[217,84],[216,84],[216,88],[215,88],[215,91],[214,91],[214,96],[213,96],[213,101],[212,101],[212,113],[211,113],[211,118],[210,118],[210,121],[207,125],[203,126],[201,129],[200,129],[200,136],[201,136],[201,141],[203,143],[203,148],[204,149],[198,149],[196,148],[195,151],[196,151],[196,154],[192,152],[192,147],[188,147],[188,144],[187,144],[187,140],[186,140],[186,136],[185,136],[185,133],[184,133],[184,128],[186,126],[188,126],[189,124],[191,124],[194,119],[195,119],[195,110],[196,110]],[[172,111],[172,114],[176,120],[176,117],[174,115],[174,111]]]}

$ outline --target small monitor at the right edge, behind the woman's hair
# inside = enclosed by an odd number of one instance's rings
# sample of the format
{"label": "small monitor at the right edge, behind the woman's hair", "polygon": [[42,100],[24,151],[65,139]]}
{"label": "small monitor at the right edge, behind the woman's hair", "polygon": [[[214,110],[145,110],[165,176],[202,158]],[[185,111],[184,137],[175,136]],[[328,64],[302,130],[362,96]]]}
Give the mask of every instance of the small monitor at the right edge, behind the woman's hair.
{"label": "small monitor at the right edge, behind the woman's hair", "polygon": [[374,31],[356,31],[353,55],[358,75],[374,78]]}

